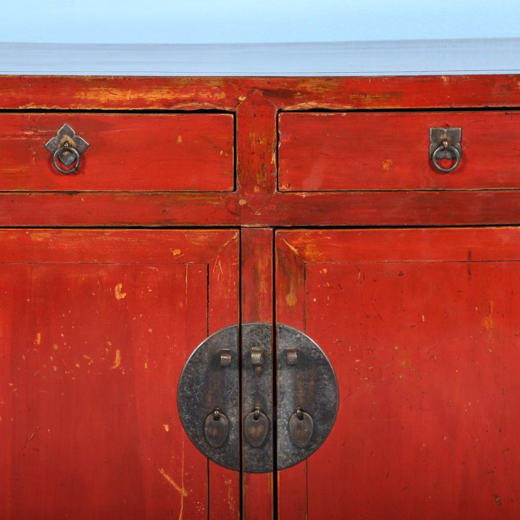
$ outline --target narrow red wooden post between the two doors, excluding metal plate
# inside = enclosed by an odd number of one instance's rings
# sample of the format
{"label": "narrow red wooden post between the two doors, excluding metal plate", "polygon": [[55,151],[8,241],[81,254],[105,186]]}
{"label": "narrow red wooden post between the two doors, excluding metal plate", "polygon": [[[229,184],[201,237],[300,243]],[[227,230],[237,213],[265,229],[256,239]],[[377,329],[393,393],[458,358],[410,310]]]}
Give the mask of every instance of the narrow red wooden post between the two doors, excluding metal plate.
{"label": "narrow red wooden post between the two doors, excluding metal plate", "polygon": [[[242,323],[272,322],[272,240],[271,228],[241,231]],[[274,518],[273,476],[273,473],[243,473],[244,520]]]}

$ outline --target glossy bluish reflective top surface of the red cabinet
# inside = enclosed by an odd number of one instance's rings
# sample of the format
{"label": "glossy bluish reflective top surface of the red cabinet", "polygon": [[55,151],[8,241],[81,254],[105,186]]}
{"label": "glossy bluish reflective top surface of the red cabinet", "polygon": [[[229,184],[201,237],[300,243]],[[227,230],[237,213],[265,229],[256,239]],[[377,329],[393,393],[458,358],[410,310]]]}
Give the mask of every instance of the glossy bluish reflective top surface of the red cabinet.
{"label": "glossy bluish reflective top surface of the red cabinet", "polygon": [[520,72],[520,38],[262,44],[0,43],[0,74],[374,76]]}

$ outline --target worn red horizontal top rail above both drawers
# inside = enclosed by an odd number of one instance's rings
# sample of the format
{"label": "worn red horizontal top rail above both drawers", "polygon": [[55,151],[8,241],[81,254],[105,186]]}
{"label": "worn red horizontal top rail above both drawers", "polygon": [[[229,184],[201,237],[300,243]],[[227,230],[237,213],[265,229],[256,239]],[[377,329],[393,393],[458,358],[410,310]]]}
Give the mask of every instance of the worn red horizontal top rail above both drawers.
{"label": "worn red horizontal top rail above both drawers", "polygon": [[282,110],[519,107],[518,74],[376,77],[2,76],[0,108],[236,110],[256,90]]}

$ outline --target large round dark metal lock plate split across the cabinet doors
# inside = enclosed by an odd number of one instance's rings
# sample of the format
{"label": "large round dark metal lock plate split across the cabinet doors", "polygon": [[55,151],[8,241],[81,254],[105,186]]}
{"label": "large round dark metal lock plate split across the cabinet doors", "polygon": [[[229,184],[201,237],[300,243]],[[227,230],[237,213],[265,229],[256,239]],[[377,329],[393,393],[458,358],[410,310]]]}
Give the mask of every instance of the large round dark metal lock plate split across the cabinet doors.
{"label": "large round dark metal lock plate split across the cabinet doors", "polygon": [[[238,329],[222,329],[194,350],[177,392],[180,419],[192,443],[232,470],[240,469]],[[272,472],[272,327],[243,323],[240,331],[242,469]],[[323,443],[336,417],[339,392],[334,370],[313,340],[284,324],[278,325],[277,339],[276,467],[283,470]]]}

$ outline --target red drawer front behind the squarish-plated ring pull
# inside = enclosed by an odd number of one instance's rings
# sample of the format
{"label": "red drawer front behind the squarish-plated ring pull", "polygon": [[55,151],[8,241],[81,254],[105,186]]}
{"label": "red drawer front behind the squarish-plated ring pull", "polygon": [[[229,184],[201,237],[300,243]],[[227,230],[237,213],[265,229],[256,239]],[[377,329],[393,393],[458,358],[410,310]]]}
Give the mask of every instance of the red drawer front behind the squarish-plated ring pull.
{"label": "red drawer front behind the squarish-plated ring pull", "polygon": [[[449,173],[430,159],[430,127],[462,128]],[[520,112],[286,112],[279,134],[281,191],[520,188]]]}

